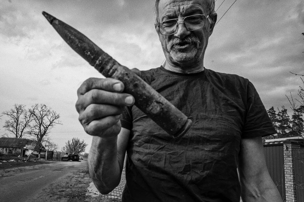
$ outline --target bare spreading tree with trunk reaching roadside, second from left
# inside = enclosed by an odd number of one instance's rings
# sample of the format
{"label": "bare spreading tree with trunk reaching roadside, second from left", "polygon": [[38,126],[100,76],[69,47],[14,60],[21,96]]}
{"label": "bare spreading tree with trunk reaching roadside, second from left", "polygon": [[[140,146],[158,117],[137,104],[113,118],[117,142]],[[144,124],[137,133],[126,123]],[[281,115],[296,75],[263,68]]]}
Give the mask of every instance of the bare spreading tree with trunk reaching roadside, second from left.
{"label": "bare spreading tree with trunk reaching roadside, second from left", "polygon": [[50,142],[48,133],[56,124],[61,124],[59,114],[50,107],[43,104],[35,104],[29,109],[29,113],[33,116],[33,122],[29,134],[37,141],[39,158],[43,146],[47,146]]}

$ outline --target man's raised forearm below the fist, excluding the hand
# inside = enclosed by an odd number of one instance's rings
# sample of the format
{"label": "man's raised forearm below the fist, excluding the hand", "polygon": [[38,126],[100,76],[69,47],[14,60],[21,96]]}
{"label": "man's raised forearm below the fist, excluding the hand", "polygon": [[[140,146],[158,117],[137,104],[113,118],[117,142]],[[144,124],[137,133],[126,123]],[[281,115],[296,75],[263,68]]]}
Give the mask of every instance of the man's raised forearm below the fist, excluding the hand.
{"label": "man's raised forearm below the fist, excluding the hand", "polygon": [[118,186],[122,165],[119,165],[117,153],[117,136],[100,138],[93,136],[88,157],[90,176],[102,194],[108,194]]}

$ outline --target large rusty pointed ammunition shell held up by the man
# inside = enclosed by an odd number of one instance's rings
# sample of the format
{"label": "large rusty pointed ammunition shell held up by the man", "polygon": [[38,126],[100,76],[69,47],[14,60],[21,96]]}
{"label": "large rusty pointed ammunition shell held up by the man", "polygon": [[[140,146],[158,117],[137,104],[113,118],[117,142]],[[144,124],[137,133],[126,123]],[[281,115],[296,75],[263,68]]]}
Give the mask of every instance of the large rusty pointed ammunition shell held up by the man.
{"label": "large rusty pointed ammunition shell held up by the man", "polygon": [[124,92],[135,98],[135,106],[168,134],[181,137],[190,128],[192,121],[138,75],[120,65],[78,30],[46,12],[43,15],[64,41],[98,72],[123,82]]}

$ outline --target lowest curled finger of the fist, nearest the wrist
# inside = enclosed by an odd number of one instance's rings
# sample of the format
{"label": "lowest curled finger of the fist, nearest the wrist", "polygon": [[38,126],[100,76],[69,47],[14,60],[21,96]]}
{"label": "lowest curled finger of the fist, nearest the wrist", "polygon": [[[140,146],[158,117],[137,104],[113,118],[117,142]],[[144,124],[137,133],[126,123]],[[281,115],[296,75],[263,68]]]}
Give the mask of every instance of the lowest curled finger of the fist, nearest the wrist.
{"label": "lowest curled finger of the fist, nearest the wrist", "polygon": [[121,123],[117,116],[107,116],[94,120],[84,127],[85,132],[92,136],[110,137],[116,136],[121,129]]}

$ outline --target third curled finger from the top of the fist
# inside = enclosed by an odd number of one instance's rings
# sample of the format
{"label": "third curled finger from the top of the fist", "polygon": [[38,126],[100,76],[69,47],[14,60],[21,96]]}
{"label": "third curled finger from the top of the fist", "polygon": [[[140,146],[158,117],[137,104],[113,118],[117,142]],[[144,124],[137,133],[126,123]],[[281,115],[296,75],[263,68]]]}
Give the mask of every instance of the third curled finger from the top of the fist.
{"label": "third curled finger from the top of the fist", "polygon": [[118,106],[91,104],[79,114],[78,120],[84,126],[106,116],[118,116],[119,118],[122,111],[123,108]]}

